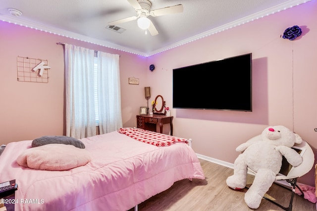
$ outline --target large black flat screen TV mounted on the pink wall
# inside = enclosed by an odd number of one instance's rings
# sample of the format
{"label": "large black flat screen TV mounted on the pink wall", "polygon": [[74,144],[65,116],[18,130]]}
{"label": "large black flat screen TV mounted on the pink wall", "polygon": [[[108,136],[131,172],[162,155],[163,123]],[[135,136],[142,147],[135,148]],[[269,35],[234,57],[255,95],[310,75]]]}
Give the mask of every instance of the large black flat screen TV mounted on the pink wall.
{"label": "large black flat screen TV mounted on the pink wall", "polygon": [[252,53],[173,69],[173,108],[252,111]]}

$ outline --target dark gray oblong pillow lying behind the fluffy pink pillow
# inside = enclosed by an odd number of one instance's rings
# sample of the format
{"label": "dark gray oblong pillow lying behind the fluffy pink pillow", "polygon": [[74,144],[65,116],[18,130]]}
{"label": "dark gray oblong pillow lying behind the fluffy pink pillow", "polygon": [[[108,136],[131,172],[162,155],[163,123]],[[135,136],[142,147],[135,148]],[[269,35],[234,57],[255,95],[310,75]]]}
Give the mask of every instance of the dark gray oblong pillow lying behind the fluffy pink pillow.
{"label": "dark gray oblong pillow lying behind the fluffy pink pillow", "polygon": [[45,135],[45,136],[36,138],[32,141],[32,147],[43,146],[46,144],[66,144],[66,145],[73,145],[80,149],[85,149],[85,145],[83,142],[81,142],[80,140],[76,138],[68,137],[68,136]]}

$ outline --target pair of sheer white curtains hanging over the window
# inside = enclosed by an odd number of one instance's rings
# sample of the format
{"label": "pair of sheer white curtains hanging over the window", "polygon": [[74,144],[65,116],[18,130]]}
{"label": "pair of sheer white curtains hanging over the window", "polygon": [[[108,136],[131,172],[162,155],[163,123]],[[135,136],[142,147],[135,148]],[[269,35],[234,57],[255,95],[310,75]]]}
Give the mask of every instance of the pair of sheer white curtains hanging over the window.
{"label": "pair of sheer white curtains hanging over the window", "polygon": [[[67,136],[84,138],[96,135],[94,53],[95,51],[91,49],[65,44]],[[106,133],[122,127],[120,100],[110,101],[111,98],[107,96],[109,91],[113,91],[112,93],[116,94],[115,97],[120,99],[119,56],[110,54],[111,56],[108,58],[109,55],[106,53],[99,52],[99,54],[101,56],[98,57],[100,60],[98,62],[98,104],[101,106],[99,113],[102,114],[99,116],[99,124],[101,133]],[[105,57],[104,54],[107,56]],[[104,75],[107,75],[108,72],[113,72],[114,81],[109,79],[104,81],[106,78]],[[106,104],[111,106],[104,106]],[[117,115],[115,118],[109,118],[114,114]]]}

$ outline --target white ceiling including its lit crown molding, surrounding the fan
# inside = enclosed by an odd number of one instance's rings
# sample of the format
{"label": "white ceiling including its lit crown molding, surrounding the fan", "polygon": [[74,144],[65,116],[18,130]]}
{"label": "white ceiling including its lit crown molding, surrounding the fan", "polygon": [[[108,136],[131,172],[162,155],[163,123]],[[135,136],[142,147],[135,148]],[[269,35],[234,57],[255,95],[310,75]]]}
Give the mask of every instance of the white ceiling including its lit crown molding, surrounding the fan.
{"label": "white ceiling including its lit crown molding, surrounding the fan", "polygon": [[[182,4],[178,14],[149,18],[159,35],[145,34],[137,21],[107,23],[135,16],[128,0],[0,0],[0,20],[48,31],[77,40],[150,56],[227,28],[260,18],[309,0],[150,0],[152,10]],[[23,14],[12,16],[7,8]]]}

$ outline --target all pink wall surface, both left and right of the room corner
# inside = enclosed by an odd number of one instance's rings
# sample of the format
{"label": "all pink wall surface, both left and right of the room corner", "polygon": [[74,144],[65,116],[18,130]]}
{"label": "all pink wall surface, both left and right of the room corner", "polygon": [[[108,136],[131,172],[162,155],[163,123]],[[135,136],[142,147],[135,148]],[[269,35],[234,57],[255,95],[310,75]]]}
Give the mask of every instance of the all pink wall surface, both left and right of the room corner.
{"label": "all pink wall surface, both left and right of the room corner", "polygon": [[[313,0],[148,58],[0,22],[0,144],[64,134],[63,49],[56,42],[66,42],[120,55],[124,127],[135,127],[135,115],[147,105],[144,86],[151,86],[150,102],[161,94],[172,107],[173,68],[252,52],[253,112],[172,109],[174,135],[192,138],[198,154],[233,163],[240,143],[268,125],[284,125],[316,152],[316,20]],[[293,42],[280,38],[293,25],[303,35]],[[49,83],[17,82],[17,56],[48,59]],[[133,77],[139,85],[128,84]],[[314,185],[313,171],[300,182]]]}

